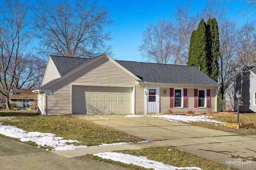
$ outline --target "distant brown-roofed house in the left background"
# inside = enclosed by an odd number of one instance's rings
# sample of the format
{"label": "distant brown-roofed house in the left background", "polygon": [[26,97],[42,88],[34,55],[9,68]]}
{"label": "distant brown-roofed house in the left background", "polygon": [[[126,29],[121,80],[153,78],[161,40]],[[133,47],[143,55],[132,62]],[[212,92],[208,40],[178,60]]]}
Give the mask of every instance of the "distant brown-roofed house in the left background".
{"label": "distant brown-roofed house in the left background", "polygon": [[27,109],[37,102],[37,95],[31,89],[14,89],[10,93],[10,103],[16,107]]}

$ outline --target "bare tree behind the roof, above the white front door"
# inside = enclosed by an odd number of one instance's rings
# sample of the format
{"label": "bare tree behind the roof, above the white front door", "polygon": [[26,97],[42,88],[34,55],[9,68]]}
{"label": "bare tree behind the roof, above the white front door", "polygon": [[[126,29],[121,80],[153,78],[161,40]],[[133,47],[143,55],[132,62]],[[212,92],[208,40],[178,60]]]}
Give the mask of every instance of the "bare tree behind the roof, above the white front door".
{"label": "bare tree behind the roof, above the white front door", "polygon": [[174,63],[172,56],[172,23],[166,20],[158,20],[156,25],[151,23],[142,33],[142,44],[138,51],[143,59],[155,63]]}

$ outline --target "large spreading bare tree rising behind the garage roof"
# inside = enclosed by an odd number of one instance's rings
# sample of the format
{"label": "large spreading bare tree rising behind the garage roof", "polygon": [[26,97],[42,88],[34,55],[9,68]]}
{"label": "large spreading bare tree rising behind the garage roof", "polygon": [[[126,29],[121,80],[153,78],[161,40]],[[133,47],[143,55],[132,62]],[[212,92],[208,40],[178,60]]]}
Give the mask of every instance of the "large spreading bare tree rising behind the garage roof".
{"label": "large spreading bare tree rising behind the garage roof", "polygon": [[34,6],[36,36],[47,55],[70,57],[96,57],[111,53],[105,44],[111,39],[105,27],[112,25],[106,8],[98,8],[96,2],[76,0],[38,1]]}

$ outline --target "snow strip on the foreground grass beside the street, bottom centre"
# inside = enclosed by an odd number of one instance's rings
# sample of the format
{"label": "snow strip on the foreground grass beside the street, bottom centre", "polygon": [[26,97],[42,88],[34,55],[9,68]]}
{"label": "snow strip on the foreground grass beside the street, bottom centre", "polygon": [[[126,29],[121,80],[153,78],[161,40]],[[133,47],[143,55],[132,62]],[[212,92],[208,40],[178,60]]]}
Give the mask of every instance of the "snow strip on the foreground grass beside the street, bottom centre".
{"label": "snow strip on the foreground grass beside the street, bottom centre", "polygon": [[163,164],[162,162],[157,162],[154,160],[147,159],[146,156],[133,156],[130,154],[116,153],[116,152],[103,152],[98,154],[93,154],[94,156],[99,156],[105,159],[111,159],[114,161],[123,162],[125,164],[134,164],[138,166],[143,166],[144,168],[153,168],[155,170],[202,170],[198,167],[176,167],[168,164]]}

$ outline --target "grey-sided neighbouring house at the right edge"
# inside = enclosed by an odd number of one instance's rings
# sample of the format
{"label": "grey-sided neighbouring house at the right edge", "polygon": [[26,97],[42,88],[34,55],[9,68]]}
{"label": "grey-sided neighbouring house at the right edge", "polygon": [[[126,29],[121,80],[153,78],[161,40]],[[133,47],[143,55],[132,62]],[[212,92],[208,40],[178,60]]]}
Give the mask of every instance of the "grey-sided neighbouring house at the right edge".
{"label": "grey-sided neighbouring house at the right edge", "polygon": [[230,84],[224,95],[227,110],[237,110],[238,92],[242,94],[239,99],[239,112],[256,113],[256,67],[243,68]]}

